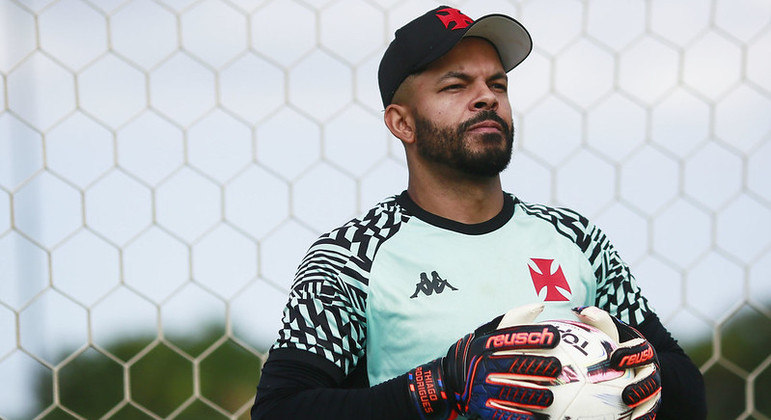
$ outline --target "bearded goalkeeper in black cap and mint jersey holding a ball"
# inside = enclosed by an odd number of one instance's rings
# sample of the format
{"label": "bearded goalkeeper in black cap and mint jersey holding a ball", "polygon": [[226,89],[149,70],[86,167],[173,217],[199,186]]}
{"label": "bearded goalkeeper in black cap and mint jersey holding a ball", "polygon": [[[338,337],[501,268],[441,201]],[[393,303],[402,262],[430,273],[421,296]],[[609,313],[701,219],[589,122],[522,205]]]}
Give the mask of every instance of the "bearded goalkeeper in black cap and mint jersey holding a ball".
{"label": "bearded goalkeeper in black cap and mint jersey holding a ball", "polygon": [[[253,419],[535,419],[532,410],[550,403],[548,385],[496,389],[517,394],[502,407],[475,385],[490,369],[548,376],[482,357],[480,343],[504,337],[501,331],[548,337],[506,329],[495,318],[532,302],[543,302],[542,319],[590,322],[589,312],[573,308],[596,305],[636,327],[647,341],[626,337],[635,343],[630,351],[652,355],[652,345],[658,362],[641,357],[651,370],[630,407],[661,389],[658,418],[705,417],[698,369],[602,232],[575,212],[502,191],[499,173],[513,144],[506,73],[531,49],[514,19],[474,22],[447,6],[396,32],[379,83],[385,124],[405,148],[407,190],[311,246],[263,368]],[[624,336],[628,327],[615,325]],[[649,411],[635,416],[651,419]]]}

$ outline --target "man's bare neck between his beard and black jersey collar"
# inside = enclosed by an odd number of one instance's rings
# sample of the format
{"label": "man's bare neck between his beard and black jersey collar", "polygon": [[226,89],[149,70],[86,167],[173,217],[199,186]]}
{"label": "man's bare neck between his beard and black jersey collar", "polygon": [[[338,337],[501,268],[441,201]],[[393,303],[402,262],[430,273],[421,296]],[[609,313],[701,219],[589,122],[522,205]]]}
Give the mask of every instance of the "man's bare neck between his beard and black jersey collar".
{"label": "man's bare neck between his beard and black jersey collar", "polygon": [[486,222],[503,209],[499,176],[452,180],[410,177],[407,193],[423,210],[465,224]]}

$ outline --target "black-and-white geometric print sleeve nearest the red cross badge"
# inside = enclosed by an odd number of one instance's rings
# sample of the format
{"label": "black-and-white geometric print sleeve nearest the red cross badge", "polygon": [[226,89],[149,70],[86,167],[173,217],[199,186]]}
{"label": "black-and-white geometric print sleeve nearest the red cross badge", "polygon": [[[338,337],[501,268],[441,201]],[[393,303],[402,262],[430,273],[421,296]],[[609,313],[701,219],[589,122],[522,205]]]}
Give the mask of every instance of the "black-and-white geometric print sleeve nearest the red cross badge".
{"label": "black-and-white geometric print sleeve nearest the red cross badge", "polygon": [[608,237],[587,218],[565,208],[523,204],[531,215],[547,220],[557,232],[569,238],[586,256],[597,281],[595,306],[632,326],[639,325],[651,312],[629,267],[618,255]]}

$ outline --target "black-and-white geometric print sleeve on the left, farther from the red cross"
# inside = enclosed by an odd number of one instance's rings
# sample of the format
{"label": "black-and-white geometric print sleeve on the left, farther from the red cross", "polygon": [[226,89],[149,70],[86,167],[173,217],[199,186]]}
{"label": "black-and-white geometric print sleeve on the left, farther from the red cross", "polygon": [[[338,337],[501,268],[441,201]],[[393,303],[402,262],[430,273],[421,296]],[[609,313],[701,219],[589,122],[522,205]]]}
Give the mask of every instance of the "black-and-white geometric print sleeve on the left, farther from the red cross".
{"label": "black-and-white geometric print sleeve on the left, farther from the red cross", "polygon": [[349,374],[366,348],[369,272],[378,247],[402,217],[389,199],[322,235],[297,269],[273,348],[315,353]]}

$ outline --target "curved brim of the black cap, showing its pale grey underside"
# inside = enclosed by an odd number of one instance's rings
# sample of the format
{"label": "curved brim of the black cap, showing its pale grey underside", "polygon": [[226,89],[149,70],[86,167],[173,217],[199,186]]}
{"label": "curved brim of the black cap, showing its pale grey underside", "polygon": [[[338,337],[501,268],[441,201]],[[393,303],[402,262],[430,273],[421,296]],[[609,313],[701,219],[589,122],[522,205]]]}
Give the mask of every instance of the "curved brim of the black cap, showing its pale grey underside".
{"label": "curved brim of the black cap, showing its pale grey underside", "polygon": [[533,39],[524,26],[506,15],[487,15],[477,19],[463,37],[480,37],[495,45],[506,71],[519,65],[533,50]]}

